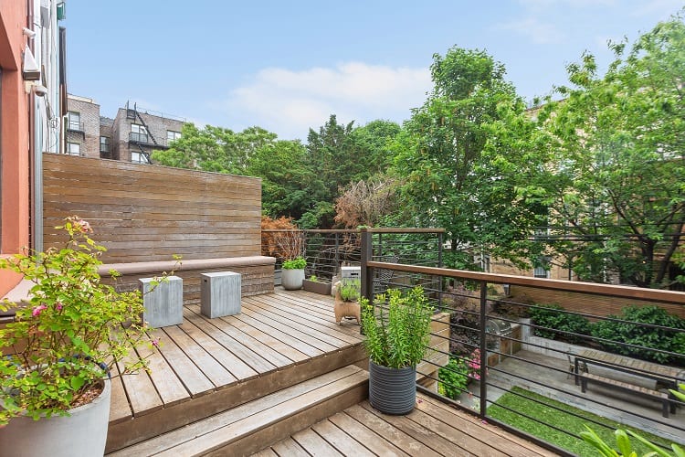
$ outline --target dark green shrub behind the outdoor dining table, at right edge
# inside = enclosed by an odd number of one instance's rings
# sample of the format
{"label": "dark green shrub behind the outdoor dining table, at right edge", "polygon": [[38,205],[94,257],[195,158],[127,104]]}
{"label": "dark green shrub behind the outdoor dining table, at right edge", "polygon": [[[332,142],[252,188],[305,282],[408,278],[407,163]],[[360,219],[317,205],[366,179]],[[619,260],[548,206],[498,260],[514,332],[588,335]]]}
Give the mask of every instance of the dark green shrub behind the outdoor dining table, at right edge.
{"label": "dark green shrub behind the outdoor dining table, at right edge", "polygon": [[[669,314],[659,306],[627,306],[621,310],[620,315],[607,317],[625,321],[599,321],[592,325],[593,336],[608,340],[601,342],[607,350],[659,363],[685,363],[685,356],[670,356],[650,350],[652,348],[685,355],[685,333],[669,330],[685,329],[684,319]],[[643,347],[616,345],[612,341]]]}

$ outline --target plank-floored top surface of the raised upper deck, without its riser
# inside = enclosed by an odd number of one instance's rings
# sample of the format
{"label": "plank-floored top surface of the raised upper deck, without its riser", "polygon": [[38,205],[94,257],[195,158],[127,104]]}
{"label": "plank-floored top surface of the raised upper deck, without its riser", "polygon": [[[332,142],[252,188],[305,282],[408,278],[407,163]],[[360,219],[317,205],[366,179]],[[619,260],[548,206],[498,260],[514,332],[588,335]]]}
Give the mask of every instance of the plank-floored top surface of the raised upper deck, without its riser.
{"label": "plank-floored top surface of the raised upper deck, without its riser", "polygon": [[161,341],[159,352],[139,348],[151,373],[115,377],[111,423],[358,346],[362,338],[337,327],[332,298],[323,298],[282,291],[244,297],[243,313],[215,319],[202,315],[199,304],[184,306],[184,324],[151,332]]}

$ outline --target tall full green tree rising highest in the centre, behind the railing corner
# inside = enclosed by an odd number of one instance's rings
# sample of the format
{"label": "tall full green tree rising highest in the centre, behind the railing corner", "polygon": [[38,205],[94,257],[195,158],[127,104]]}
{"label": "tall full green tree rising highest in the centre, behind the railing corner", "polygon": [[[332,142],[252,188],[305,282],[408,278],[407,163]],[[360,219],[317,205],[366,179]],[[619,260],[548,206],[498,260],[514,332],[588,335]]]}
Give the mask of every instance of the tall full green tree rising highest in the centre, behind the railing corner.
{"label": "tall full green tree rising highest in the centre, behind the railing corner", "polygon": [[534,130],[504,66],[480,50],[433,57],[434,90],[397,136],[395,173],[406,181],[409,225],[446,228],[448,264],[474,268],[473,250],[526,264],[540,216],[516,192]]}

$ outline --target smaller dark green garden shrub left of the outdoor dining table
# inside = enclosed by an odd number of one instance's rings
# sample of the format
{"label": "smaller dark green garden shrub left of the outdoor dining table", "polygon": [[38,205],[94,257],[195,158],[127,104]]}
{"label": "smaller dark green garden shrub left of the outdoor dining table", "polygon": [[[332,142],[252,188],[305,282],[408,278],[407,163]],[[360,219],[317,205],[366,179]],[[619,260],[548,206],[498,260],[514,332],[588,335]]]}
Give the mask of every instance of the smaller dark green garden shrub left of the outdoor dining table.
{"label": "smaller dark green garden shrub left of the outdoor dining table", "polygon": [[530,309],[532,323],[538,325],[534,329],[535,335],[543,338],[559,339],[570,343],[577,343],[583,338],[569,335],[588,335],[590,321],[578,314],[568,314],[558,304],[539,304]]}

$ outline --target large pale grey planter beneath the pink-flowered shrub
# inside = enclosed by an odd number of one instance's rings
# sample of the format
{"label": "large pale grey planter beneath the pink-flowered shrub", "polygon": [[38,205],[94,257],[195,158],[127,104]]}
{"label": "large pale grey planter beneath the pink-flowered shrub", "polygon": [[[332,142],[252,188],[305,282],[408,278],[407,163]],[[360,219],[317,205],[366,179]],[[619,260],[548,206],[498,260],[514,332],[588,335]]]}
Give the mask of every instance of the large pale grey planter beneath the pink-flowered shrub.
{"label": "large pale grey planter beneath the pink-flowered shrub", "polygon": [[70,416],[33,420],[13,418],[0,429],[0,453],[23,457],[102,455],[110,421],[111,381],[106,379],[100,397],[70,409]]}

